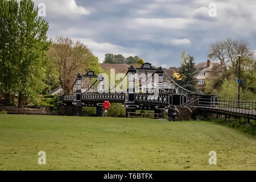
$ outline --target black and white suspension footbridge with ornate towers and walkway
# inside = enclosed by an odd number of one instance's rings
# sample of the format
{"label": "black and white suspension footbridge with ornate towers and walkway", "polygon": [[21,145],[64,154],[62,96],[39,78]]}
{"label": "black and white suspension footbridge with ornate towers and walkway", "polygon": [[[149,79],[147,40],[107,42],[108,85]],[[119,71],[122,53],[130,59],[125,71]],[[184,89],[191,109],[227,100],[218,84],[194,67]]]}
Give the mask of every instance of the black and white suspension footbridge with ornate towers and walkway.
{"label": "black and white suspension footbridge with ornate towers and walkway", "polygon": [[82,107],[97,107],[97,116],[103,117],[104,101],[121,103],[126,117],[136,117],[136,110],[154,110],[155,118],[163,118],[164,110],[174,106],[180,121],[199,112],[256,119],[255,101],[220,100],[218,96],[191,92],[177,84],[163,68],[153,68],[150,63],[141,68],[131,66],[117,84],[109,84],[104,74],[79,73],[69,93],[61,96],[60,114],[81,116]]}

